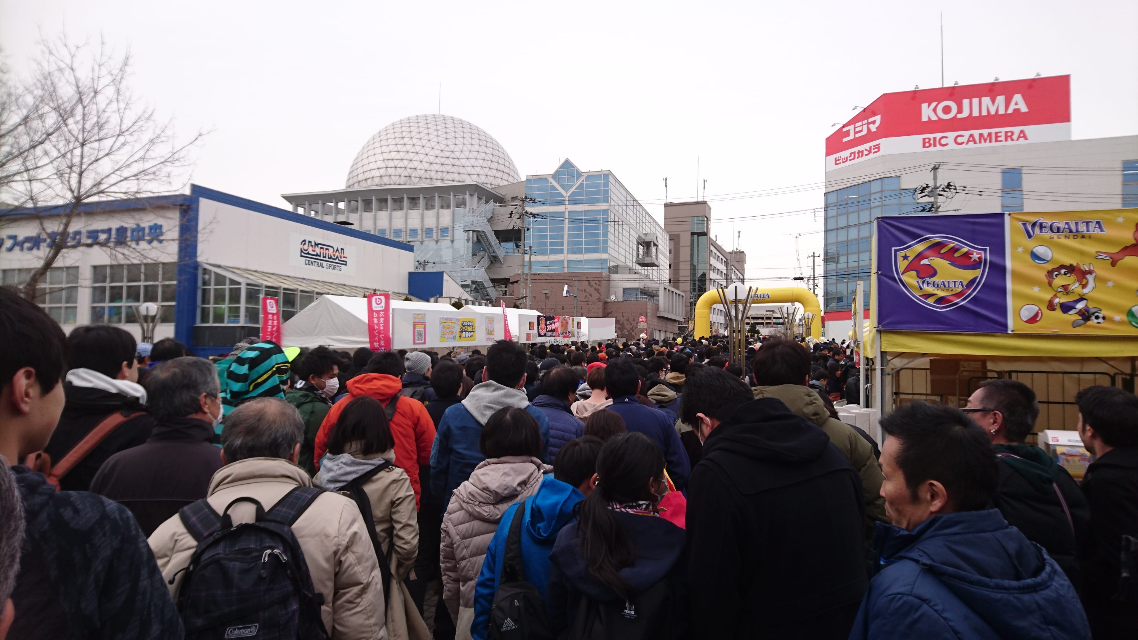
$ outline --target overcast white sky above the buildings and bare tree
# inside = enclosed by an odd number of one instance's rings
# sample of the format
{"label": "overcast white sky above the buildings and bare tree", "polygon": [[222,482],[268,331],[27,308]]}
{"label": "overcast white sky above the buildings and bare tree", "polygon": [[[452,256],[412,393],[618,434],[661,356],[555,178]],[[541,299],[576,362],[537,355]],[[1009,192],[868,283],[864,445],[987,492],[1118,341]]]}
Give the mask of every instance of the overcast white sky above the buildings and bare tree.
{"label": "overcast white sky above the buildings and bare tree", "polygon": [[[822,248],[824,139],[853,105],[940,84],[1071,74],[1074,138],[1138,133],[1138,2],[139,2],[0,0],[15,72],[41,34],[129,48],[134,90],[209,129],[192,181],[277,206],[344,184],[389,122],[478,124],[525,174],[611,170],[662,220],[708,179],[748,278]],[[712,6],[714,5],[714,6]],[[727,194],[813,184],[774,197]],[[820,274],[820,269],[819,269]]]}

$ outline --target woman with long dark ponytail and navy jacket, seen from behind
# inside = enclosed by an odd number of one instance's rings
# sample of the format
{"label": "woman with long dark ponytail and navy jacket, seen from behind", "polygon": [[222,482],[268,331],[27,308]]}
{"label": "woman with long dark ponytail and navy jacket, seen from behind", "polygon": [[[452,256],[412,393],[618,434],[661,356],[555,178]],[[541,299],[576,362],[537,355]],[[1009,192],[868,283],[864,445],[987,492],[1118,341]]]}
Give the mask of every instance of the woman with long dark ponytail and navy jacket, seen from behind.
{"label": "woman with long dark ponytail and navy jacket, seen from behind", "polygon": [[605,442],[595,489],[550,555],[550,625],[572,638],[683,637],[684,531],[660,517],[663,456],[641,433]]}

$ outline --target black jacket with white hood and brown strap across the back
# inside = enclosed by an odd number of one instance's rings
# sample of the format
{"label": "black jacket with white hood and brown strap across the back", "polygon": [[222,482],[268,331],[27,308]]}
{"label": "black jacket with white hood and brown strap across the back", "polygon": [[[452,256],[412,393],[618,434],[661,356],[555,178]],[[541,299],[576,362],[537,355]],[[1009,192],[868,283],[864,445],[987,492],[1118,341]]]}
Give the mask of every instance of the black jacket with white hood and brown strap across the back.
{"label": "black jacket with white hood and brown strap across the back", "polygon": [[[64,456],[82,441],[91,429],[115,411],[123,409],[141,409],[133,397],[112,393],[91,387],[79,387],[71,383],[64,383],[64,412],[59,416],[59,424],[56,426],[51,440],[43,451],[51,456],[51,462],[63,460]],[[115,453],[138,446],[150,437],[150,429],[154,428],[154,418],[147,413],[139,413],[125,422],[118,425],[114,432],[96,446],[86,458],[75,465],[72,470],[59,481],[59,489],[63,491],[86,491],[91,486],[91,478],[94,477],[99,467]]]}

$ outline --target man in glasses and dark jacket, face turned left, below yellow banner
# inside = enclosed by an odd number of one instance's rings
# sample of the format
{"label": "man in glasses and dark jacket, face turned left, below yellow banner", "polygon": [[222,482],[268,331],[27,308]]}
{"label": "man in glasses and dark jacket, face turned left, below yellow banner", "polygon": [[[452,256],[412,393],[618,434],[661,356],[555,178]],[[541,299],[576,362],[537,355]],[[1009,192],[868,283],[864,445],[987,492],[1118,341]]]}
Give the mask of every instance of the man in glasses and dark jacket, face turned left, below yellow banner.
{"label": "man in glasses and dark jacket, face turned left, below yellow banner", "polygon": [[1079,549],[1089,540],[1090,506],[1066,469],[1042,449],[1025,444],[1039,417],[1036,393],[1019,380],[984,380],[964,412],[996,449],[999,485],[993,506],[1009,525],[1046,549],[1080,590]]}

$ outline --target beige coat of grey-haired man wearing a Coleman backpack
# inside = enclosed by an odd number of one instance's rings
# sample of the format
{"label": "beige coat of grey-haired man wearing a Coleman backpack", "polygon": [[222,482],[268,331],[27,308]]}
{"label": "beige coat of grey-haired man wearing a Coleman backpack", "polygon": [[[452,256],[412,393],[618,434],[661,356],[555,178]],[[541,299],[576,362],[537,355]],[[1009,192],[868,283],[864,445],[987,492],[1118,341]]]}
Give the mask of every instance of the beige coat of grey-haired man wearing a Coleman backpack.
{"label": "beige coat of grey-haired man wearing a Coleman backpack", "polygon": [[[221,512],[236,498],[255,498],[269,510],[295,486],[311,486],[308,474],[279,458],[248,458],[225,465],[209,481],[207,499]],[[253,522],[254,506],[239,502],[229,510],[234,523]],[[292,534],[300,543],[312,574],[312,584],[324,597],[321,616],[328,633],[337,639],[386,639],[384,588],[371,536],[360,509],[351,499],[323,493],[297,518]],[[197,542],[174,516],[149,539],[163,577],[174,577],[170,592],[178,589]],[[175,576],[176,574],[176,576]]]}

